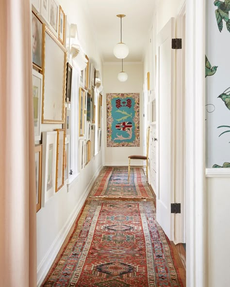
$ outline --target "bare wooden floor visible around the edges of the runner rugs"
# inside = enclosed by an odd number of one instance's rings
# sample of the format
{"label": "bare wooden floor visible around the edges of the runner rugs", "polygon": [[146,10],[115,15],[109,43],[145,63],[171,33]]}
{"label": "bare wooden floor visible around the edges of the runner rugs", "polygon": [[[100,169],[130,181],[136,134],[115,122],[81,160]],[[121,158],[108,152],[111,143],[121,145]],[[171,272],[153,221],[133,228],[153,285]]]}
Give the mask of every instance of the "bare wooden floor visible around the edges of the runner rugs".
{"label": "bare wooden floor visible around the edges of the runner rugs", "polygon": [[[99,174],[99,176],[100,176],[100,174]],[[99,177],[98,177],[98,178],[99,178]],[[96,182],[97,182],[97,179],[96,179],[96,181],[94,182],[94,185],[92,186],[91,191],[93,190],[93,188],[94,188]],[[88,196],[88,197],[86,198],[85,202],[86,202],[87,200],[103,200],[103,201],[104,201],[104,200],[153,201],[153,202],[154,202],[154,205],[155,205],[155,207],[156,207],[156,195],[155,195],[155,193],[154,193],[152,187],[151,187],[150,185],[148,185],[148,187],[149,187],[149,189],[150,189],[150,191],[151,191],[151,193],[152,193],[152,195],[153,195],[154,198],[124,198],[124,197],[123,197],[123,198],[122,198],[122,197],[118,197],[118,198],[117,198],[117,197],[89,197],[89,196]],[[91,191],[90,191],[90,192],[91,192]],[[89,194],[90,194],[90,193],[89,193]],[[83,205],[83,207],[84,207],[84,205]],[[83,209],[83,207],[82,207],[82,209]],[[78,215],[78,217],[76,218],[75,222],[78,220],[78,218],[80,217],[80,215],[81,215],[81,212],[80,212],[80,214]],[[68,240],[69,240],[69,238],[70,238],[70,236],[71,236],[71,234],[72,234],[72,232],[73,232],[73,229],[74,229],[74,227],[75,227],[75,222],[74,222],[73,226],[71,227],[71,229],[70,229],[70,231],[69,231],[69,233],[68,233],[68,235],[67,235],[67,237],[66,237],[66,240],[65,240],[65,242],[63,243],[63,245],[62,245],[62,247],[61,247],[61,249],[60,249],[60,251],[59,251],[57,257],[55,258],[55,260],[54,260],[54,262],[53,262],[53,264],[52,264],[52,266],[51,266],[50,269],[52,269],[52,268],[55,266],[55,263],[56,263],[57,259],[58,259],[59,256],[62,254],[62,251],[63,251],[63,249],[65,248],[65,246],[66,246],[66,244],[67,244],[67,242],[68,242]],[[172,250],[172,254],[173,254],[173,258],[174,258],[174,263],[176,263],[175,265],[177,266],[178,271],[179,271],[179,273],[180,273],[180,275],[181,275],[181,280],[182,280],[183,287],[186,287],[186,266],[185,266],[186,253],[185,253],[185,249],[184,249],[184,247],[183,247],[183,245],[182,245],[181,243],[179,243],[179,244],[177,244],[177,245],[175,245],[173,242],[170,242],[170,243],[171,243],[171,250]],[[45,278],[45,280],[46,280],[46,278]],[[45,281],[45,280],[44,280],[44,281]]]}

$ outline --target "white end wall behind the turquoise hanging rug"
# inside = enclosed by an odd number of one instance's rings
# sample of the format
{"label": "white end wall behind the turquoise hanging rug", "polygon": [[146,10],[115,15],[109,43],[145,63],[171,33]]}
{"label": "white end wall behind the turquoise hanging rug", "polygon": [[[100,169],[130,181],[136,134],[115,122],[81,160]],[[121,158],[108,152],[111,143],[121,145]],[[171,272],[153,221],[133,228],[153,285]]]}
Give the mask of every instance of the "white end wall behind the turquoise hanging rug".
{"label": "white end wall behind the turquoise hanging rug", "polygon": [[[121,71],[120,63],[104,63],[103,65],[103,150],[105,166],[128,166],[128,156],[143,154],[143,65],[139,62],[125,63],[123,70],[128,74],[126,82],[120,82],[117,74]],[[106,146],[106,93],[140,93],[140,147],[113,147]],[[133,163],[134,164],[134,163]],[[142,163],[137,163],[142,165]]]}

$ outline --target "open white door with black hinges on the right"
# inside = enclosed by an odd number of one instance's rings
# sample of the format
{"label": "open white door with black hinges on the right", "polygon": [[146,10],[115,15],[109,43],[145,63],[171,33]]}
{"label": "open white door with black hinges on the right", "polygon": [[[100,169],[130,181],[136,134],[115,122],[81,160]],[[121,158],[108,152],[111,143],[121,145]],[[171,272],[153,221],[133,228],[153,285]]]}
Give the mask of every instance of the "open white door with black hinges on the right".
{"label": "open white door with black hinges on the right", "polygon": [[171,18],[157,35],[157,221],[169,240],[174,240],[174,62],[175,19]]}

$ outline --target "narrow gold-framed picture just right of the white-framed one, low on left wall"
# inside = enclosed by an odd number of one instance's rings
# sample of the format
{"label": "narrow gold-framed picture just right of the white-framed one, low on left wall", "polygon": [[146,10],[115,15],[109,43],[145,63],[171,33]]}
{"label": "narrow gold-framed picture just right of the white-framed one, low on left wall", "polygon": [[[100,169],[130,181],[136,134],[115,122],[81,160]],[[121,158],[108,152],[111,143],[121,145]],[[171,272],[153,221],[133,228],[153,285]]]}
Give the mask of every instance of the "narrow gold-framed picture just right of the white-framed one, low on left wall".
{"label": "narrow gold-framed picture just right of the white-framed one, low on left wall", "polygon": [[64,185],[65,169],[65,130],[56,129],[57,131],[57,159],[56,159],[56,188],[57,192]]}

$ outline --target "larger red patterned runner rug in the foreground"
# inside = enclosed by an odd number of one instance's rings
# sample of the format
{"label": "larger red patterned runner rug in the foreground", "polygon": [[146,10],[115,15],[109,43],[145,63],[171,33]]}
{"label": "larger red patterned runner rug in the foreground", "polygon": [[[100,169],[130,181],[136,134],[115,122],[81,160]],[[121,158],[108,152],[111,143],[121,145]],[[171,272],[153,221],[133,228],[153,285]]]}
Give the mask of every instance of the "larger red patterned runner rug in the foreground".
{"label": "larger red patterned runner rug in the foreground", "polygon": [[182,287],[153,202],[88,201],[43,287]]}

